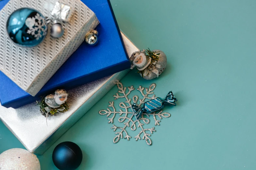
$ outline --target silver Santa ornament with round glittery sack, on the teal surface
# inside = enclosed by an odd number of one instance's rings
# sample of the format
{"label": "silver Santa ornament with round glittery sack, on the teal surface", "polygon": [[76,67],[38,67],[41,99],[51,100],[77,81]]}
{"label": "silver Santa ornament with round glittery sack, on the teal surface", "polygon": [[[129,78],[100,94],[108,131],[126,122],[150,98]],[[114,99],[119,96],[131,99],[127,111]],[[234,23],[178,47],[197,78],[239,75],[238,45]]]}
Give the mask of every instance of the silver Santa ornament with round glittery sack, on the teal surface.
{"label": "silver Santa ornament with round glittery sack, on the teal surface", "polygon": [[167,58],[161,50],[142,50],[132,53],[131,69],[137,68],[141,77],[151,80],[158,78],[166,68]]}

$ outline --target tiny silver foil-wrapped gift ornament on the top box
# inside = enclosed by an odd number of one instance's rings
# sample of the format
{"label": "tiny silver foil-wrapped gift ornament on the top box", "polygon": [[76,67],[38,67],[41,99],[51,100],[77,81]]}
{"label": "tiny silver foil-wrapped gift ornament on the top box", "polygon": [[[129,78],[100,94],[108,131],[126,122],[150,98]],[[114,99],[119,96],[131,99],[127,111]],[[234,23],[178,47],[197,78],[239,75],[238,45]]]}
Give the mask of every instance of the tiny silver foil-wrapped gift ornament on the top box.
{"label": "tiny silver foil-wrapped gift ornament on the top box", "polygon": [[51,15],[54,18],[57,17],[58,19],[60,19],[62,21],[68,22],[72,15],[72,7],[62,3],[62,0],[61,0],[61,2],[57,1],[55,3],[55,6],[52,10]]}

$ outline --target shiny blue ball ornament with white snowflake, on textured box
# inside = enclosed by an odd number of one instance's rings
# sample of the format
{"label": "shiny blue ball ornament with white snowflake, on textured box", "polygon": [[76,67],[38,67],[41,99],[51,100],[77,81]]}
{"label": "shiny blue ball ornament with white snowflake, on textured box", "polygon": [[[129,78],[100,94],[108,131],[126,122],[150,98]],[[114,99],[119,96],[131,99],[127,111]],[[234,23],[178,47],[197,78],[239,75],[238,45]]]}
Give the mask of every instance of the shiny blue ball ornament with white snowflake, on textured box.
{"label": "shiny blue ball ornament with white snowflake, on textured box", "polygon": [[37,46],[48,31],[44,16],[32,8],[14,11],[7,20],[6,29],[10,39],[22,47]]}

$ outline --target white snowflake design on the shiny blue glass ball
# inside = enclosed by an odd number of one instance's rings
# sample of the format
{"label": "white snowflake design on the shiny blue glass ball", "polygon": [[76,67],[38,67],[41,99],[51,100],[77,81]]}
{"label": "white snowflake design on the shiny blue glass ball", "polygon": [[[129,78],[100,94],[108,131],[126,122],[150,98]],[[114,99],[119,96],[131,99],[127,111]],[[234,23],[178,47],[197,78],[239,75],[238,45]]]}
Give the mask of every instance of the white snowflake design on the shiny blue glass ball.
{"label": "white snowflake design on the shiny blue glass ball", "polygon": [[32,18],[27,18],[25,24],[29,28],[27,33],[34,35],[37,40],[47,34],[46,21],[39,13]]}

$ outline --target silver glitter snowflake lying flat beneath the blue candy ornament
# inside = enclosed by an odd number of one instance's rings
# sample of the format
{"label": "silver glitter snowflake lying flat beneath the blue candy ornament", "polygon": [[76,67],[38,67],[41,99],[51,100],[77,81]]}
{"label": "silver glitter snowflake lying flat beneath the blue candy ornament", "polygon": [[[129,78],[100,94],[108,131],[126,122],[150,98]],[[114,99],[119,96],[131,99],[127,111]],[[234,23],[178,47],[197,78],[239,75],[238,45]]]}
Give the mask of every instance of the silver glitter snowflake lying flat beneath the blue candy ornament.
{"label": "silver glitter snowflake lying flat beneath the blue candy ornament", "polygon": [[[121,102],[119,104],[119,107],[121,109],[119,109],[119,111],[116,110],[115,106],[114,106],[114,102],[109,102],[109,108],[107,108],[107,110],[100,110],[99,111],[99,114],[100,115],[107,115],[107,117],[110,117],[112,115],[111,118],[108,118],[109,120],[109,123],[113,123],[113,120],[115,118],[115,116],[118,114],[120,117],[118,118],[118,121],[120,123],[124,123],[124,126],[123,127],[117,127],[115,125],[112,125],[113,127],[111,127],[111,129],[114,130],[114,132],[117,130],[117,129],[120,129],[119,132],[116,132],[116,136],[114,137],[113,139],[113,142],[114,143],[117,143],[120,138],[123,138],[123,135],[125,135],[124,139],[127,139],[129,140],[131,138],[131,136],[128,135],[128,132],[127,132],[127,127],[130,127],[130,129],[132,131],[135,131],[137,128],[140,128],[140,132],[138,135],[136,135],[134,138],[136,139],[136,141],[138,141],[138,139],[141,140],[141,135],[143,134],[143,137],[142,139],[146,141],[146,144],[147,145],[151,145],[152,144],[152,141],[151,139],[149,138],[149,136],[151,136],[149,133],[147,132],[150,132],[151,134],[153,134],[153,132],[156,132],[155,130],[155,127],[152,127],[152,128],[149,128],[149,129],[144,129],[144,123],[145,124],[149,124],[150,123],[150,120],[146,117],[150,117],[150,116],[153,116],[154,120],[155,120],[155,126],[157,125],[160,125],[159,122],[160,120],[157,120],[156,118],[158,117],[159,119],[162,119],[162,118],[169,118],[171,116],[170,113],[163,113],[163,111],[159,111],[159,112],[153,112],[153,113],[150,113],[150,114],[147,114],[147,113],[143,113],[141,118],[139,118],[138,120],[135,118],[133,112],[131,112],[131,98],[128,98],[128,95],[133,91],[135,90],[133,88],[133,86],[131,87],[123,87],[123,84],[121,82],[118,82],[117,83],[117,88],[119,89],[118,93],[119,94],[122,94],[121,96],[116,93],[116,95],[113,95],[114,100],[116,99],[119,99],[119,98],[125,98],[126,101],[125,102]],[[152,99],[155,99],[155,95],[149,97],[148,95],[151,95],[151,94],[154,94],[154,89],[156,88],[156,84],[153,83],[149,86],[149,88],[144,88],[144,87],[141,87],[139,86],[139,88],[137,89],[141,95],[142,95],[142,99],[139,99],[139,97],[137,95],[133,96],[132,97],[132,101],[133,103],[137,103],[138,100],[139,100],[139,104],[138,106],[141,106],[142,104],[144,104],[145,100],[152,100]],[[128,89],[128,92],[126,93]],[[144,91],[145,90],[145,91]],[[110,109],[112,108],[112,109]],[[146,116],[146,117],[144,117]],[[137,126],[136,126],[137,125]],[[123,134],[124,133],[124,134]]]}

